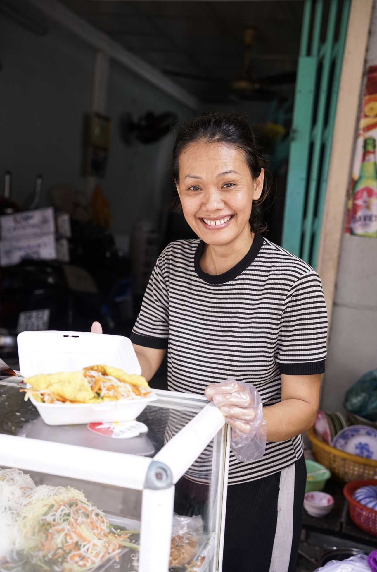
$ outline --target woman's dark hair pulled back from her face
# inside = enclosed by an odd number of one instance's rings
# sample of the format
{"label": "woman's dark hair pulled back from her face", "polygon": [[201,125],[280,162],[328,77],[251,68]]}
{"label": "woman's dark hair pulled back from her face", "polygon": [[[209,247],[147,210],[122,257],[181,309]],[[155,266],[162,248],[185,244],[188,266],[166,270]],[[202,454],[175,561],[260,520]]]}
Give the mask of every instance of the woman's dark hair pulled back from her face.
{"label": "woman's dark hair pulled back from her face", "polygon": [[[204,143],[225,143],[240,149],[250,169],[253,179],[258,178],[264,161],[260,157],[255,142],[254,133],[247,119],[231,113],[203,113],[188,122],[178,133],[173,149],[173,177],[179,182],[179,157],[191,143],[203,141]],[[270,173],[264,172],[264,185],[258,200],[252,201],[249,219],[252,232],[259,234],[266,231],[267,224],[263,221],[263,205],[271,188]],[[177,191],[176,191],[177,192]],[[181,201],[176,194],[173,205],[179,208]]]}

